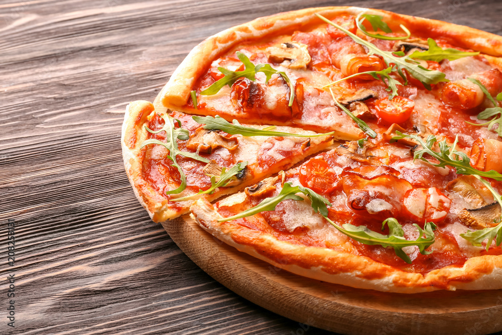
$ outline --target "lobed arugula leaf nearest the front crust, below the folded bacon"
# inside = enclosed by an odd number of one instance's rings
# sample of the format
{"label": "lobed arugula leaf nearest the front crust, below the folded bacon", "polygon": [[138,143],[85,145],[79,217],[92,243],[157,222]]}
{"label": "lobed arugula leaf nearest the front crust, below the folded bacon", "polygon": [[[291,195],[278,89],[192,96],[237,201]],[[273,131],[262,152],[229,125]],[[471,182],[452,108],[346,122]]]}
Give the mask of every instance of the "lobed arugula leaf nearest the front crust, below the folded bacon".
{"label": "lobed arugula leaf nearest the front crust, below the folded bacon", "polygon": [[[390,247],[394,248],[396,255],[408,264],[411,264],[410,257],[403,251],[404,247],[417,246],[422,255],[428,255],[432,251],[426,251],[434,241],[434,232],[436,230],[436,225],[433,222],[426,222],[424,230],[420,228],[419,225],[413,224],[418,229],[419,237],[413,240],[406,240],[404,238],[404,231],[398,220],[394,217],[389,217],[382,222],[382,230],[384,230],[385,225],[389,226],[389,235],[383,235],[369,230],[366,226],[354,226],[351,224],[344,224],[342,227],[338,226],[330,220],[328,217],[324,217],[334,228],[336,228],[340,233],[345,234],[349,238],[360,242],[362,244],[374,246],[379,245],[384,248]],[[425,238],[422,237],[425,234]]]}

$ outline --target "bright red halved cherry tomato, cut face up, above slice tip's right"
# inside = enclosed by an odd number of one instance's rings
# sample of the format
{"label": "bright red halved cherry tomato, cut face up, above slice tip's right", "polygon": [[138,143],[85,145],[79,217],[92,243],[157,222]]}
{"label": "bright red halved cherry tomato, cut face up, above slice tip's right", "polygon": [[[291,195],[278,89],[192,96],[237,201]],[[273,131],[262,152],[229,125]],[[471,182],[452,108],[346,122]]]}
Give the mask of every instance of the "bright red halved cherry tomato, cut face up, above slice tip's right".
{"label": "bright red halved cherry tomato, cut face up, above slice tip's right", "polygon": [[386,123],[403,123],[407,121],[415,108],[415,101],[397,95],[392,100],[387,97],[375,102],[376,114]]}

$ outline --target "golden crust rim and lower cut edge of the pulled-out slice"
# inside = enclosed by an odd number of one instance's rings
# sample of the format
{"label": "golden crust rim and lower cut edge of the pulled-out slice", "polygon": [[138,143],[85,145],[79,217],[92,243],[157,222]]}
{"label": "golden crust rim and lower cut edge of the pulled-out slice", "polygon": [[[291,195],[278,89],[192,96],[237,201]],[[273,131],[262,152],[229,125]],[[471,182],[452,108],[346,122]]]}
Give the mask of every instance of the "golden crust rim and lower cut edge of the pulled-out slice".
{"label": "golden crust rim and lower cut edge of the pulled-out slice", "polygon": [[[126,115],[122,124],[122,157],[124,167],[129,177],[129,181],[133,186],[136,197],[140,203],[148,211],[150,217],[155,222],[162,222],[168,219],[175,218],[182,214],[188,213],[190,205],[195,200],[187,200],[177,204],[177,208],[172,206],[169,199],[163,197],[157,192],[151,184],[143,178],[143,160],[145,152],[140,149],[141,143],[147,139],[147,131],[143,128],[148,116],[155,113],[155,107],[152,103],[144,100],[131,102],[126,108]],[[302,132],[299,129],[289,129],[289,132]],[[241,183],[235,187],[223,188],[213,194],[205,194],[203,197],[208,201],[213,201],[222,195],[230,194],[239,191],[243,187],[253,185],[265,177],[273,173],[277,173],[282,169],[291,167],[305,157],[315,154],[332,143],[331,136],[316,138],[309,142],[311,145],[301,155],[292,156],[289,159],[284,159],[278,164],[271,166],[268,170],[260,173],[254,171],[253,178]]]}

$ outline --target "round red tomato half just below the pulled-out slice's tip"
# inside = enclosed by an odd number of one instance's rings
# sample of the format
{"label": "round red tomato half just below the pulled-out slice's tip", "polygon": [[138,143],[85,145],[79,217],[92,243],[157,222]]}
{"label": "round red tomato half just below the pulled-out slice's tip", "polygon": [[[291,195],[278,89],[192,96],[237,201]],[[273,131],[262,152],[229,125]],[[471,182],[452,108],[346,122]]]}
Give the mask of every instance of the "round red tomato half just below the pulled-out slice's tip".
{"label": "round red tomato half just below the pulled-out slice's tip", "polygon": [[314,158],[300,168],[300,183],[317,193],[331,193],[339,186],[336,172],[322,159]]}

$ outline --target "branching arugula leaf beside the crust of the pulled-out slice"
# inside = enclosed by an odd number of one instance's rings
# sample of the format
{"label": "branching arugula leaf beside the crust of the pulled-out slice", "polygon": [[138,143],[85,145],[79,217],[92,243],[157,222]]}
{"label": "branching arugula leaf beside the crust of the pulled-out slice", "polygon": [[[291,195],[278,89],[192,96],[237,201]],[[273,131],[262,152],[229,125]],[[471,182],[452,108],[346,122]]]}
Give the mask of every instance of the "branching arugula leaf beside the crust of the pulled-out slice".
{"label": "branching arugula leaf beside the crust of the pulled-out slice", "polygon": [[[176,156],[181,155],[204,163],[209,163],[209,160],[205,159],[204,157],[200,157],[197,154],[179,150],[176,139],[182,141],[188,140],[189,138],[188,131],[186,129],[181,128],[181,121],[179,121],[178,119],[171,118],[169,115],[162,115],[161,118],[164,120],[164,127],[162,127],[162,129],[158,131],[153,131],[146,125],[145,129],[152,134],[166,132],[166,142],[164,143],[156,139],[150,139],[144,141],[141,144],[141,148],[149,144],[158,144],[164,146],[167,150],[169,150],[169,155],[167,156],[167,158],[169,158],[173,162],[172,165],[178,169],[180,173],[181,184],[178,188],[174,190],[166,191],[166,194],[177,194],[183,192],[183,190],[186,188],[187,179],[185,173],[183,172],[181,167],[178,165],[178,162],[176,161]],[[174,128],[174,122],[178,124],[179,128]]]}

